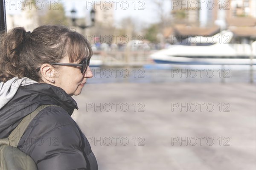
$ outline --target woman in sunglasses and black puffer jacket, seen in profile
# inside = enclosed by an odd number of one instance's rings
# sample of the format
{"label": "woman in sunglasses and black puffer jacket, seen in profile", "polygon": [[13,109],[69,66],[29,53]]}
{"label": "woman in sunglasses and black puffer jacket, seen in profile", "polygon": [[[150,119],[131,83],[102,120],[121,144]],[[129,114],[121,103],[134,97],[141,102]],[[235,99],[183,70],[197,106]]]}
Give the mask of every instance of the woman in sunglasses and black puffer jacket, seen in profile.
{"label": "woman in sunglasses and black puffer jacket, seen in profile", "polygon": [[42,170],[98,169],[90,144],[71,118],[71,97],[88,78],[92,50],[81,34],[65,26],[18,27],[1,35],[0,138],[41,105],[18,143]]}

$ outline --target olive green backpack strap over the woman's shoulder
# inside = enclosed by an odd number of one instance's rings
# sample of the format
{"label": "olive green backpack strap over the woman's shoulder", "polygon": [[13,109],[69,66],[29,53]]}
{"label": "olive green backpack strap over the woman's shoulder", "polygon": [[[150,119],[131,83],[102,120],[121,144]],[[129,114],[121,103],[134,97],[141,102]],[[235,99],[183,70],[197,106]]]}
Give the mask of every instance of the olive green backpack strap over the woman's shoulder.
{"label": "olive green backpack strap over the woman's shoulder", "polygon": [[[35,111],[25,116],[21,122],[15,127],[14,130],[12,130],[12,133],[9,135],[9,137],[6,139],[3,139],[4,144],[8,144],[13,147],[17,147],[18,143],[20,142],[21,137],[23,136],[26,128],[28,127],[29,123],[34,119],[34,117],[44,108],[49,106],[56,106],[56,105],[41,105]],[[9,140],[8,140],[9,139]],[[2,142],[1,141],[1,142]]]}

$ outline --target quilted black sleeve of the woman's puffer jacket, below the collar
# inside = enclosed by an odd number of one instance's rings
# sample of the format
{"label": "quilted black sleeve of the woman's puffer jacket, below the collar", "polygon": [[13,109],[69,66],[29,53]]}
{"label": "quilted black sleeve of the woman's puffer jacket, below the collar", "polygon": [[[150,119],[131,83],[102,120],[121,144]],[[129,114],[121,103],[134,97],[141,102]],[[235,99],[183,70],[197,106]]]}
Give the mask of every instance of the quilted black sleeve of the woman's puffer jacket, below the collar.
{"label": "quilted black sleeve of the woman's puffer jacket, below the collar", "polygon": [[41,111],[30,122],[18,148],[32,157],[39,170],[88,169],[86,155],[92,152],[63,108]]}

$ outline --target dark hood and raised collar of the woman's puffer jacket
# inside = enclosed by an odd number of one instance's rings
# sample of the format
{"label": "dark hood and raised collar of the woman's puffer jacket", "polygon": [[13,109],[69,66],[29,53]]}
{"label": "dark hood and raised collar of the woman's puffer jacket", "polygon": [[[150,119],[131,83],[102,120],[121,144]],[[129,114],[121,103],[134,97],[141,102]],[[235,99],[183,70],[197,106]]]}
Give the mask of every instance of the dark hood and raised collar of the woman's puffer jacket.
{"label": "dark hood and raised collar of the woman's puffer jacket", "polygon": [[0,108],[0,137],[7,137],[23,117],[41,105],[61,106],[69,115],[78,109],[76,101],[62,88],[46,83],[20,86],[14,96],[1,105],[4,106]]}

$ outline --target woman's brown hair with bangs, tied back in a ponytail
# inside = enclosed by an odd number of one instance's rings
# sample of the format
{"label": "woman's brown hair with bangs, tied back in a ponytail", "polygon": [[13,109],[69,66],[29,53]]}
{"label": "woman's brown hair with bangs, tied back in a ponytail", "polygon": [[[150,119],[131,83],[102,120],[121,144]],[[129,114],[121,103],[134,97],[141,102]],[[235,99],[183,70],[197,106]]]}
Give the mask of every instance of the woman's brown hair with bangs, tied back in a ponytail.
{"label": "woman's brown hair with bangs, tied back in a ponytail", "polygon": [[87,39],[62,25],[44,25],[26,32],[17,27],[0,37],[0,81],[28,77],[42,82],[37,68],[44,63],[59,62],[66,55],[70,62],[92,56]]}

